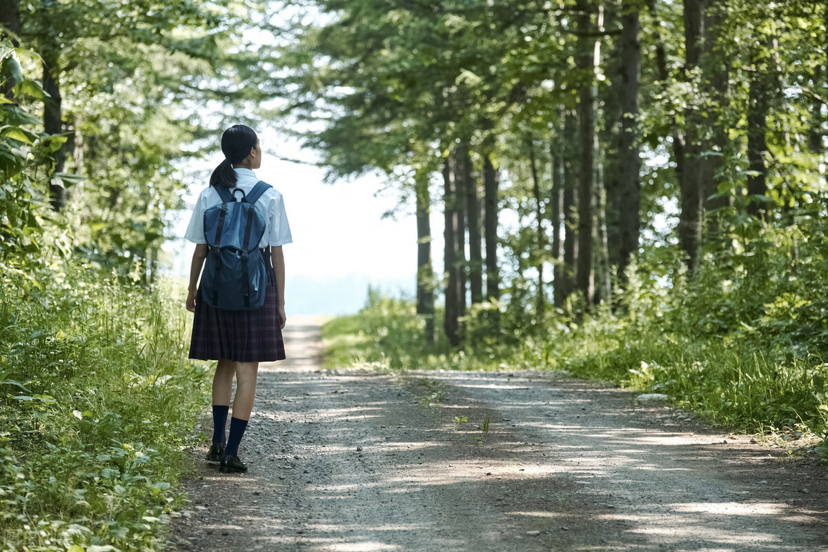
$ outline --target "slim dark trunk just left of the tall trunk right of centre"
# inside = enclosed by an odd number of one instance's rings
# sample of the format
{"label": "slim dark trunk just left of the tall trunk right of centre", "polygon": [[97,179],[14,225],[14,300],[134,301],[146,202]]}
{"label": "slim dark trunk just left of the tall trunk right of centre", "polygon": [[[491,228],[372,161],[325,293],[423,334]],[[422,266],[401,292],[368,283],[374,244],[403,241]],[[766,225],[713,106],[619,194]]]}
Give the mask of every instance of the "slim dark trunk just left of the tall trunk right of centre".
{"label": "slim dark trunk just left of the tall trunk right of centre", "polygon": [[578,171],[575,165],[573,144],[578,140],[576,115],[564,116],[564,277],[561,295],[566,299],[575,290],[575,270],[578,263],[578,205],[575,190],[578,187]]}

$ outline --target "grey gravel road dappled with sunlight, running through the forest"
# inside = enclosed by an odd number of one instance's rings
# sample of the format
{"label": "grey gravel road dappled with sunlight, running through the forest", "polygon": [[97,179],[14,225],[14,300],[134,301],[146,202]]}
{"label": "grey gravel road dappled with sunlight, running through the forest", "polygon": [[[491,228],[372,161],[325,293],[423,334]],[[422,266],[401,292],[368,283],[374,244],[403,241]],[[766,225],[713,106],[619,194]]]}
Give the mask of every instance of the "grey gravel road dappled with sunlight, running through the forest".
{"label": "grey gravel road dappled with sunlight, running through the forest", "polygon": [[249,473],[200,461],[177,550],[828,551],[813,457],[552,372],[321,372],[312,319],[286,343]]}

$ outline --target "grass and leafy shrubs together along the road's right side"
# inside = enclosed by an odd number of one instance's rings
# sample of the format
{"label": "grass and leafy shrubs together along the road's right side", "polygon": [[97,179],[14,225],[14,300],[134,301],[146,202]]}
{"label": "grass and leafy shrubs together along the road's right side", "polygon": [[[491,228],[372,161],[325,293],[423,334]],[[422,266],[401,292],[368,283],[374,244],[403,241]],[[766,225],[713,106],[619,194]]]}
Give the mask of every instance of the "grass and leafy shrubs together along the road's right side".
{"label": "grass and leafy shrubs together along the road's right side", "polygon": [[[668,267],[633,264],[616,308],[580,316],[558,309],[542,324],[512,306],[500,309],[493,330],[484,320],[497,307],[481,305],[465,317],[465,342],[456,349],[445,338],[426,343],[425,320],[412,300],[371,293],[359,314],[323,328],[326,362],[389,370],[558,369],[665,393],[676,406],[734,430],[820,436],[816,450],[828,457],[828,363],[821,358],[828,275],[819,266],[796,266],[801,283],[784,276],[790,266],[774,274],[774,261],[790,262],[783,245],[775,257],[751,260],[765,266],[735,271],[730,280],[722,265],[709,262],[689,283],[676,266],[672,286],[664,286]],[[442,317],[438,310],[438,327]]]}

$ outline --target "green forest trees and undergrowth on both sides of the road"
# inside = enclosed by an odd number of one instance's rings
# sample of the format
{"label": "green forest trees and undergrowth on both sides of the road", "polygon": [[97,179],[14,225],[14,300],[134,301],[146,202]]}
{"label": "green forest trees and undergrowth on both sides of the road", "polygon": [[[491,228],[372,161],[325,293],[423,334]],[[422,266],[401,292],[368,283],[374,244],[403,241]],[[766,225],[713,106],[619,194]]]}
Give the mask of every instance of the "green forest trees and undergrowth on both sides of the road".
{"label": "green forest trees and undergrowth on both sides of the road", "polygon": [[416,295],[334,362],[561,369],[828,456],[826,2],[2,0],[0,89],[2,550],[175,516],[209,366],[161,244],[233,122],[416,213]]}

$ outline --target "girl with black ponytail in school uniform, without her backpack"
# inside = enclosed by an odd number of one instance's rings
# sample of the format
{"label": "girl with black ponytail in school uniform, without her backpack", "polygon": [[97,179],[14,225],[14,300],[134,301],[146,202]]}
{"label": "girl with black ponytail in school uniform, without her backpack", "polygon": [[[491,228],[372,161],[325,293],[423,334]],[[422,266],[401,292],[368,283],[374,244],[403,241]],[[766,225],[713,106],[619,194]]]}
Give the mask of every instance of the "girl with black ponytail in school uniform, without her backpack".
{"label": "girl with black ponytail in school uniform, without her backpack", "polygon": [[[258,310],[216,310],[201,300],[196,283],[207,255],[204,233],[205,210],[222,202],[218,186],[241,188],[247,194],[258,178],[253,169],[262,166],[262,147],[256,132],[244,125],[229,127],[221,137],[224,161],[210,176],[209,186],[195,202],[185,238],[194,242],[195,252],[190,265],[190,288],[187,310],[195,313],[190,358],[218,360],[213,378],[213,444],[207,454],[211,462],[219,462],[219,472],[246,472],[247,464],[238,459],[238,444],[247,429],[256,394],[259,362],[285,358],[282,329],[285,327],[285,258],[282,246],[291,243],[282,194],[267,190],[254,204],[265,219],[266,228],[259,248],[270,259],[267,271],[265,304]],[[236,377],[236,396],[230,434],[225,438],[224,425],[230,408],[230,394]]]}

